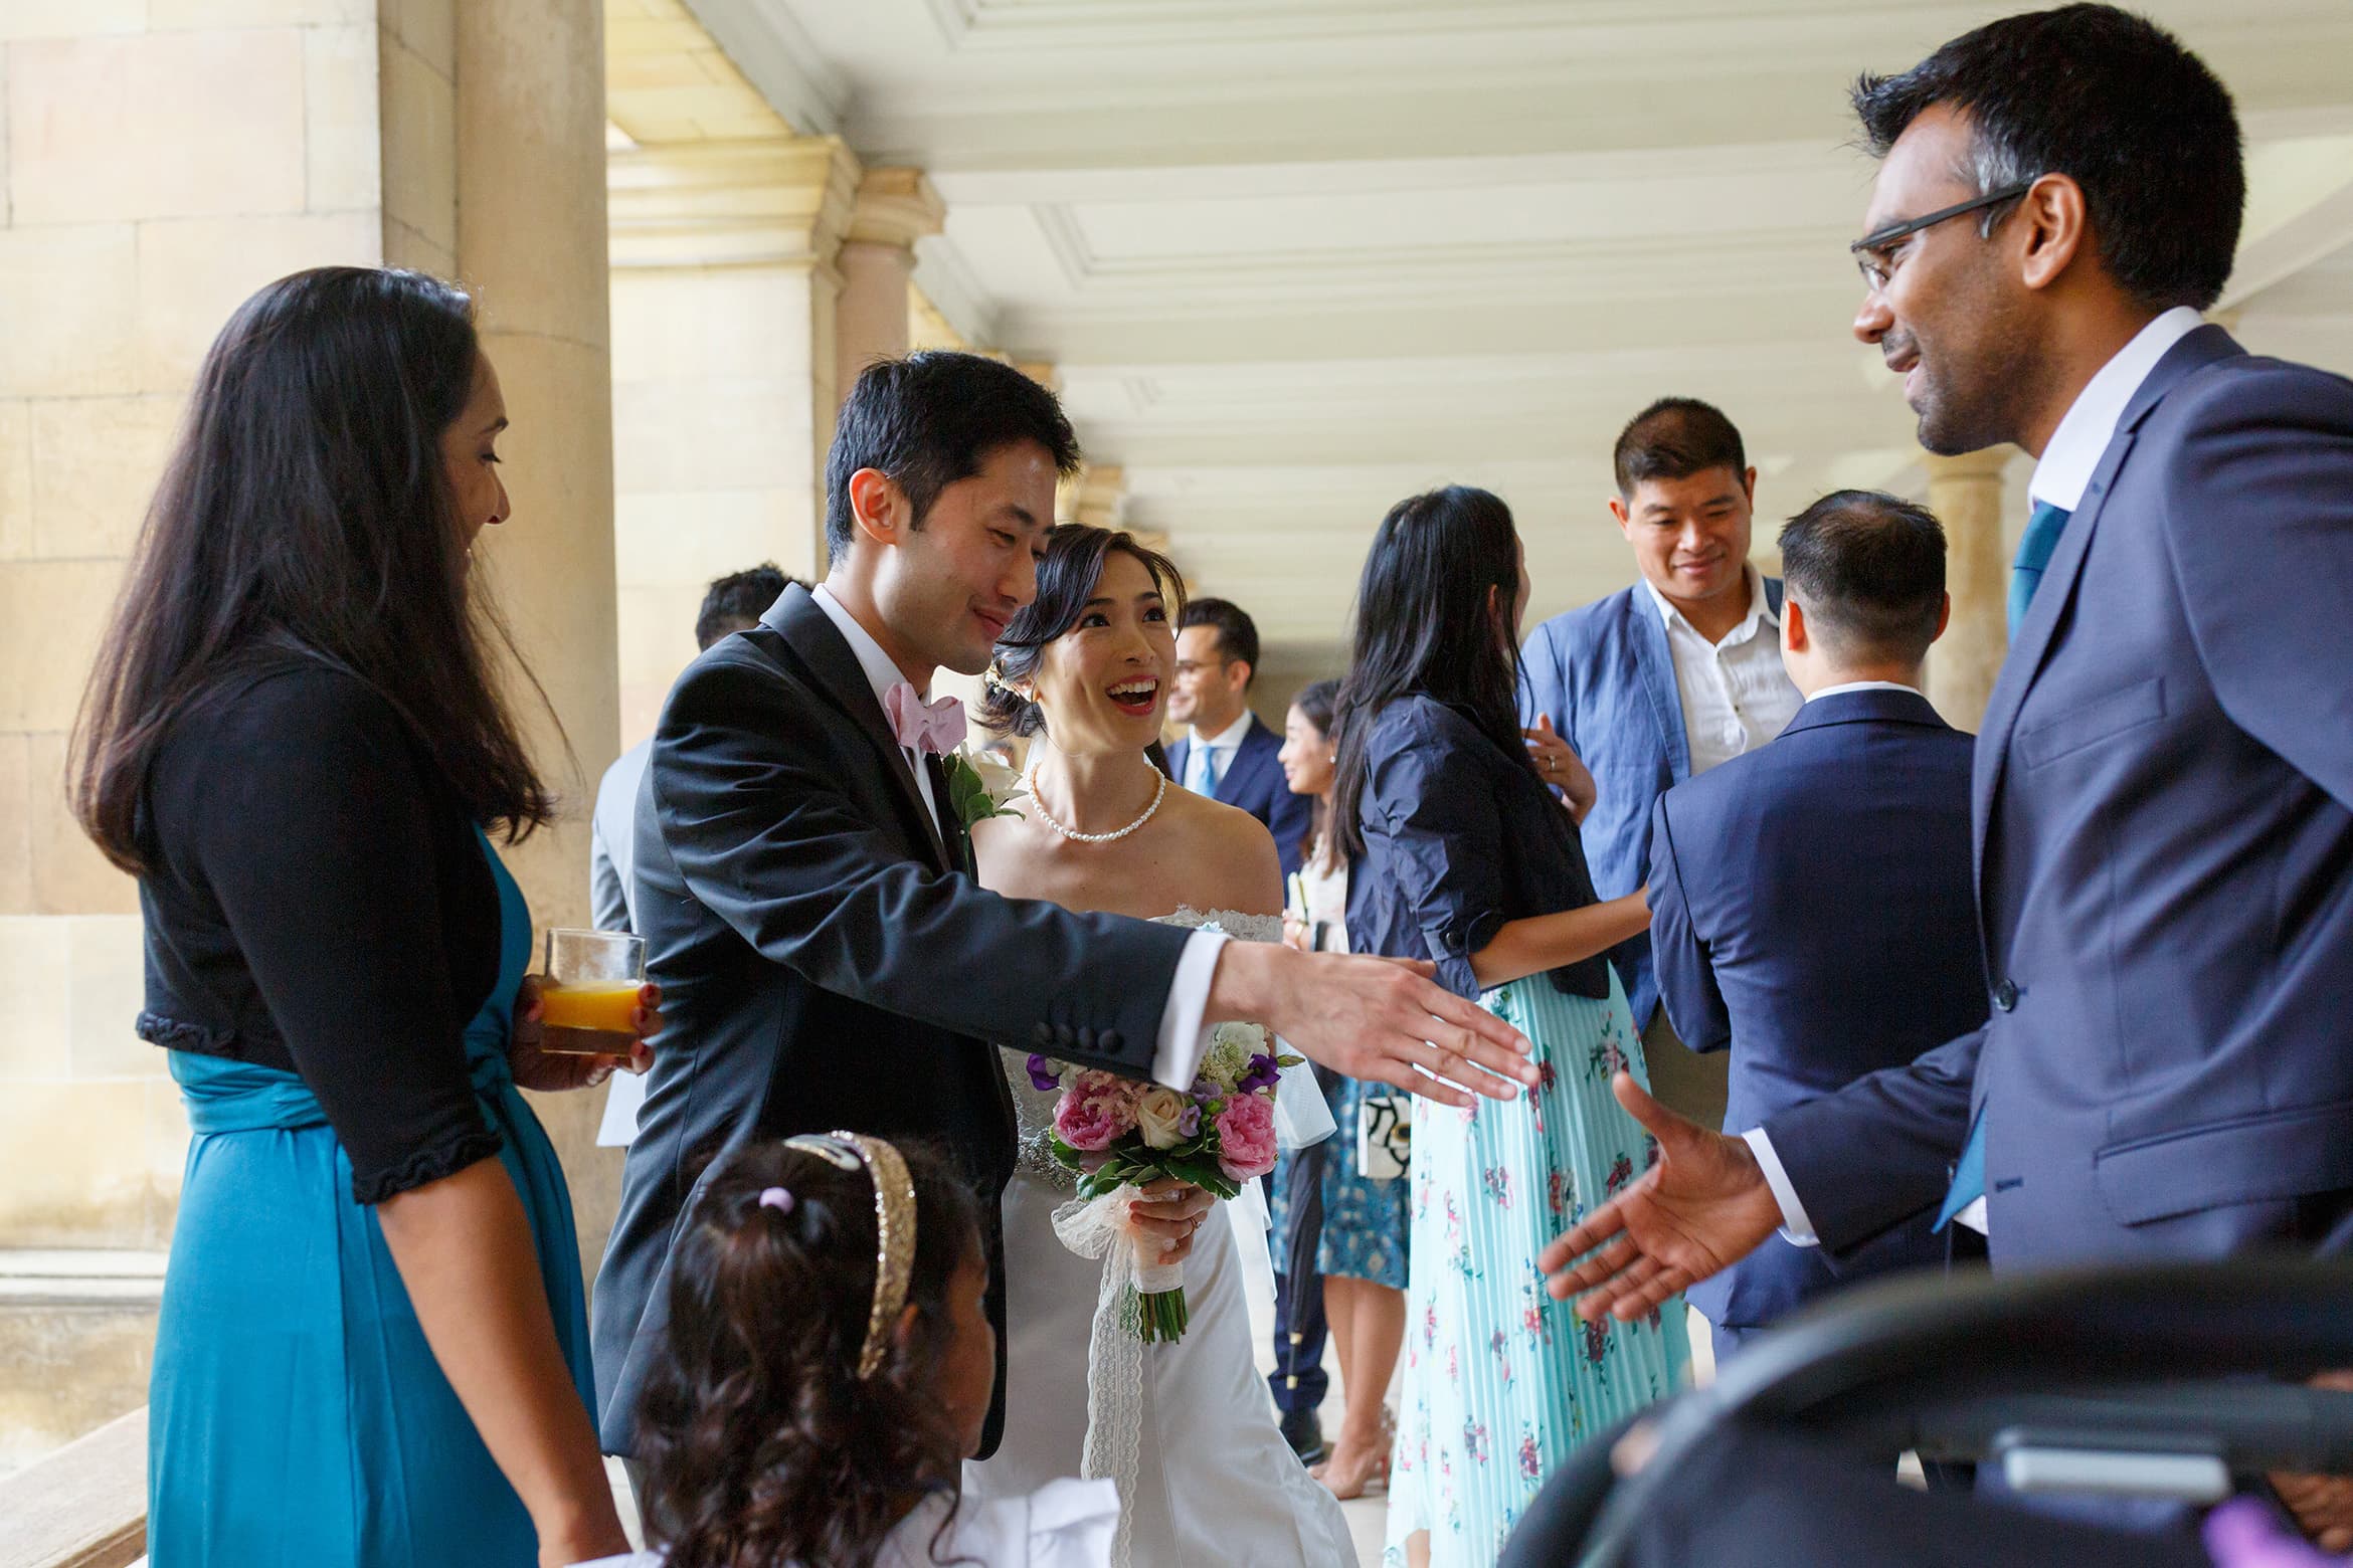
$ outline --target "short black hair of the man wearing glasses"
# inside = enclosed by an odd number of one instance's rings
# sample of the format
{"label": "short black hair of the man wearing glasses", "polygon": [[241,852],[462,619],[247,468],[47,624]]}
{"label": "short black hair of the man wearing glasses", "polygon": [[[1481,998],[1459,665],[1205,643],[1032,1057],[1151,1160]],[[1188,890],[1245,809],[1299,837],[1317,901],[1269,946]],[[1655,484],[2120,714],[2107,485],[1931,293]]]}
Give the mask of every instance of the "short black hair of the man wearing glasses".
{"label": "short black hair of the man wearing glasses", "polygon": [[[1962,33],[1901,75],[1854,82],[1864,146],[1885,158],[1922,110],[1969,120],[1979,195],[2066,174],[2099,263],[2148,310],[2221,299],[2247,207],[2231,92],[2172,33],[2113,5],[2064,5]],[[2009,205],[1986,209],[1991,235]]]}

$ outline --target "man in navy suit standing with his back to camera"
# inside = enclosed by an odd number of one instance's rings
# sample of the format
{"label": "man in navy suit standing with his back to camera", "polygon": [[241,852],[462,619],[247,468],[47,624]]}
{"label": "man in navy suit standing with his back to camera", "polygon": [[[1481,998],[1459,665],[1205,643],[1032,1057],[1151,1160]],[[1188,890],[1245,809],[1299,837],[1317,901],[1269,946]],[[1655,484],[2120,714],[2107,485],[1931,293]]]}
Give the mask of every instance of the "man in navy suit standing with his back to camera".
{"label": "man in navy suit standing with his back to camera", "polygon": [[[1767,748],[1659,797],[1649,936],[1692,1051],[1732,1056],[1725,1131],[1835,1093],[1986,1020],[1969,886],[1969,736],[1920,693],[1944,632],[1944,529],[1838,491],[1781,529],[1781,663],[1805,708]],[[1842,1267],[1781,1237],[1689,1302],[1722,1363],[1842,1279],[1944,1262],[1920,1213]]]}

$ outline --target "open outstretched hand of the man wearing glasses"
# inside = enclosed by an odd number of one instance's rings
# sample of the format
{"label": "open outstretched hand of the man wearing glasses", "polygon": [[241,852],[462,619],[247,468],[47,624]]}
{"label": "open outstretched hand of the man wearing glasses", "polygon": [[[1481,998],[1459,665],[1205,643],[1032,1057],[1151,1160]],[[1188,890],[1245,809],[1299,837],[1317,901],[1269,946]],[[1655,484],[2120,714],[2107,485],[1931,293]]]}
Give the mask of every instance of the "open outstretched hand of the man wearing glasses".
{"label": "open outstretched hand of the man wearing glasses", "polygon": [[1537,1255],[1551,1274],[1544,1288],[1553,1300],[1577,1295],[1586,1321],[1605,1312],[1638,1319],[1781,1227],[1781,1204],[1748,1140],[1678,1117],[1626,1072],[1609,1088],[1659,1140],[1659,1161]]}

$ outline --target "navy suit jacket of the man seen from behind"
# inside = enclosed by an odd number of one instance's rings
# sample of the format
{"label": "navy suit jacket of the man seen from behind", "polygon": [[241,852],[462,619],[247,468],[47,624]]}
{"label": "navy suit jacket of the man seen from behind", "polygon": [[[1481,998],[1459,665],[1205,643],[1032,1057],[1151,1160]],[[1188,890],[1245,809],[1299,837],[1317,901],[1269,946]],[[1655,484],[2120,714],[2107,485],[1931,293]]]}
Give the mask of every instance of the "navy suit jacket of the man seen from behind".
{"label": "navy suit jacket of the man seen from behind", "polygon": [[[1807,703],[1772,745],[1659,797],[1649,936],[1675,1034],[1732,1048],[1727,1133],[1974,1030],[1969,736],[1915,691]],[[1932,1220],[1838,1269],[1774,1237],[1687,1295],[1758,1328],[1840,1279],[1944,1262]]]}

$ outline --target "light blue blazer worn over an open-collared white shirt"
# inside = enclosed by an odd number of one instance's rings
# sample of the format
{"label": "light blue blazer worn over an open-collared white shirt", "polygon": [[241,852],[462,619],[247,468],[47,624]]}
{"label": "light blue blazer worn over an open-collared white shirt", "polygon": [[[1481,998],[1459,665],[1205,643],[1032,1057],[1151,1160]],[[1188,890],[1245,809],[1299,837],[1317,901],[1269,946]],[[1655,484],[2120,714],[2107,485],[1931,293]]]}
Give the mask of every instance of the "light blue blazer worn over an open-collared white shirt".
{"label": "light blue blazer worn over an open-collared white shirt", "polygon": [[[1781,578],[1765,578],[1765,604],[1781,614]],[[1602,898],[1624,898],[1649,877],[1649,809],[1692,776],[1682,733],[1682,691],[1666,646],[1659,602],[1642,583],[1541,623],[1520,651],[1520,722],[1553,729],[1584,759],[1600,790],[1581,835]],[[1649,933],[1609,950],[1626,983],[1633,1027],[1649,1027],[1659,985]]]}

